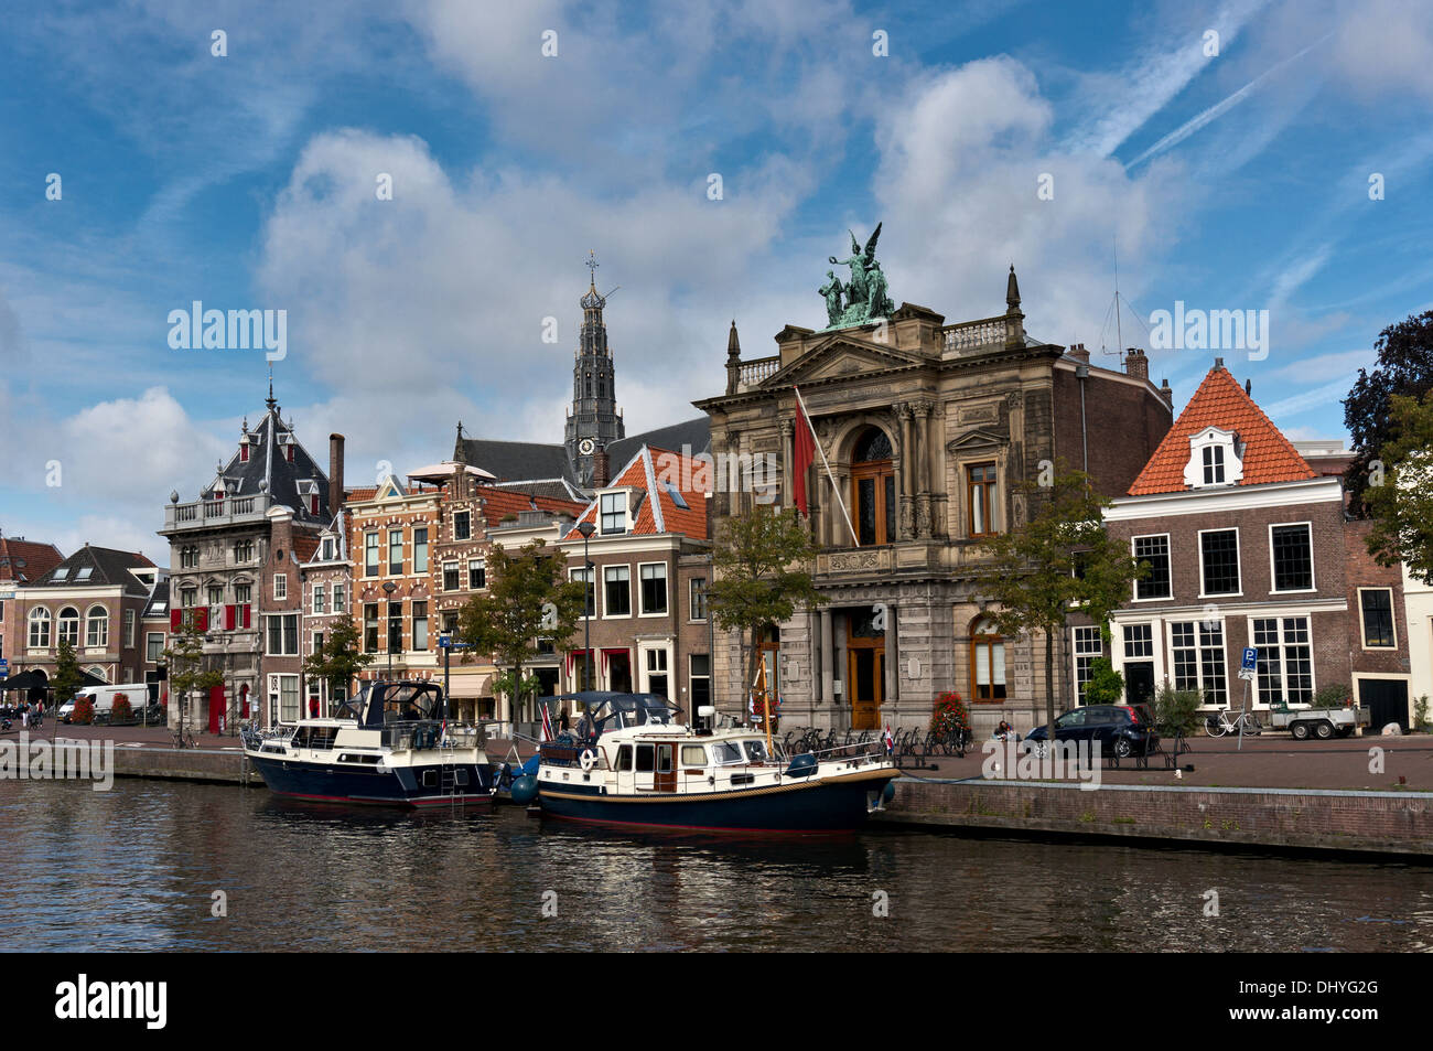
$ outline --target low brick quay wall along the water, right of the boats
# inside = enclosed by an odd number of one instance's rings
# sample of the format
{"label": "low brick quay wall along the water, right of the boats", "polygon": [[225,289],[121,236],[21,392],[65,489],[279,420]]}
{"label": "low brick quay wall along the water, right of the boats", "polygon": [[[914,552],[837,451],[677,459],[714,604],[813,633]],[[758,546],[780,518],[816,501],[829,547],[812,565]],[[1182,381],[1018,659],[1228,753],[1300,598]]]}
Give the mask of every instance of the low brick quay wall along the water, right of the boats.
{"label": "low brick quay wall along the water, right of the boats", "polygon": [[1433,791],[894,781],[883,823],[1433,859]]}

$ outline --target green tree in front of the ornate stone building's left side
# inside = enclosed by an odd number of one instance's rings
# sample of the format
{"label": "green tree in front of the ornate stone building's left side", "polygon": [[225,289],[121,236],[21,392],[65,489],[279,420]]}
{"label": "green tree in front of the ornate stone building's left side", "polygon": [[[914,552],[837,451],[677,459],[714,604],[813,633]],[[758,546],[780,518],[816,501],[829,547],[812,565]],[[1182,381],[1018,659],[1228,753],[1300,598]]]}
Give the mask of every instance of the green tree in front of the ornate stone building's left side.
{"label": "green tree in front of the ornate stone building's left side", "polygon": [[790,621],[798,605],[825,602],[811,582],[814,558],[811,533],[794,508],[777,513],[757,505],[722,520],[712,548],[715,581],[706,591],[708,607],[718,628],[745,637],[747,683],[757,678],[761,634]]}

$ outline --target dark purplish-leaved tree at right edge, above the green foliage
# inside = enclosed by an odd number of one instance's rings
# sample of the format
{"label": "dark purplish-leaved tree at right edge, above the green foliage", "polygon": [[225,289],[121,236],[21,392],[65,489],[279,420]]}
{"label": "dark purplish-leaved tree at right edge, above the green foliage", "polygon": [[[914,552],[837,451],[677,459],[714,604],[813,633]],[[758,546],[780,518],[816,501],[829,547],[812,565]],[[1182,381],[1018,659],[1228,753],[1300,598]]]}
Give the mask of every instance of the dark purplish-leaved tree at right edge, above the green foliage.
{"label": "dark purplish-leaved tree at right edge, above the green foliage", "polygon": [[1373,462],[1383,455],[1383,446],[1393,437],[1391,399],[1396,394],[1422,399],[1433,389],[1433,310],[1410,314],[1403,321],[1379,333],[1373,344],[1379,363],[1370,373],[1358,370],[1358,379],[1344,399],[1344,426],[1353,437],[1354,460],[1344,482],[1348,486],[1348,506],[1356,515],[1367,516],[1366,493]]}

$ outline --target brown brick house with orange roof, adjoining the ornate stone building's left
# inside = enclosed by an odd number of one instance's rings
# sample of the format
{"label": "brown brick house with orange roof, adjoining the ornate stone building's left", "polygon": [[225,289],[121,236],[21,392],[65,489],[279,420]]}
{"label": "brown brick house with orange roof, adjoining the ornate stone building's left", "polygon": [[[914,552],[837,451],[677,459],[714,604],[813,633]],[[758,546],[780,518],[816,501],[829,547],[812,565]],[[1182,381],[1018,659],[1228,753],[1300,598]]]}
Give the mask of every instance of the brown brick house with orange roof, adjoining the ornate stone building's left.
{"label": "brown brick house with orange roof, adjoining the ornate stone building's left", "polygon": [[[563,654],[565,690],[580,690],[590,657],[590,688],[662,694],[686,718],[711,698],[706,586],[711,541],[704,465],[642,446],[606,482],[598,457],[593,500],[559,545],[567,575],[588,582],[590,655],[579,624]],[[579,526],[590,522],[590,572]]]}

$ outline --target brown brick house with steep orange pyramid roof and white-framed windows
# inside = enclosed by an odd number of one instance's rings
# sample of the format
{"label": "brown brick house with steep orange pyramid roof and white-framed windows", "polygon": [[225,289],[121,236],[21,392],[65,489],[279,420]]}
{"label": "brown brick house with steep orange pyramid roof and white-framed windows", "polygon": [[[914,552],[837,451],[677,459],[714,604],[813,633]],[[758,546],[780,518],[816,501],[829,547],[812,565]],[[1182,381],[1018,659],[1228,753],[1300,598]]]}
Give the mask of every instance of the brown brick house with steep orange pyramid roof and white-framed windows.
{"label": "brown brick house with steep orange pyramid roof and white-framed windows", "polygon": [[[1363,552],[1367,523],[1344,513],[1336,470],[1318,473],[1215,360],[1159,449],[1106,512],[1112,536],[1151,565],[1099,629],[1070,628],[1076,691],[1108,655],[1131,700],[1156,684],[1242,704],[1244,647],[1258,651],[1250,705],[1307,704],[1346,685],[1374,710],[1407,710],[1401,582]],[[1397,690],[1401,703],[1390,700]],[[1406,721],[1406,714],[1399,721]],[[1386,720],[1387,721],[1387,720]]]}

